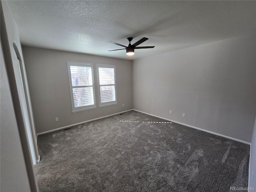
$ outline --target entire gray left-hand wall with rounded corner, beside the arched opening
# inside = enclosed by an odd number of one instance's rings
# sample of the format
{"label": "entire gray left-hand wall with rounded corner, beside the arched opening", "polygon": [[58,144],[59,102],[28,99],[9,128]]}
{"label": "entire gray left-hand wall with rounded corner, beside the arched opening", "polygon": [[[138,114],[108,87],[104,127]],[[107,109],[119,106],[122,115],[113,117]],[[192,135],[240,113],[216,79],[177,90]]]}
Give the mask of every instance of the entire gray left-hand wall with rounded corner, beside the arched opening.
{"label": "entire gray left-hand wall with rounded corner, beside the arched opening", "polygon": [[[13,42],[21,52],[17,26],[6,1],[1,1],[1,188],[3,192],[38,191],[13,74],[16,57]],[[3,48],[3,49],[2,49]],[[21,55],[22,57],[22,55]],[[21,58],[22,59],[22,58]]]}

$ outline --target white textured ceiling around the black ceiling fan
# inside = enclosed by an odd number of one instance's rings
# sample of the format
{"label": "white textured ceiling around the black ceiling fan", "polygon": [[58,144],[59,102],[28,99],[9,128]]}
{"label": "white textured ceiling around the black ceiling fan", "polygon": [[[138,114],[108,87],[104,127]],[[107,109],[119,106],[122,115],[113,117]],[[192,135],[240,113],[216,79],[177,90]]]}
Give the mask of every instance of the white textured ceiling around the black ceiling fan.
{"label": "white textured ceiling around the black ceiling fan", "polygon": [[[256,1],[8,1],[23,45],[138,59],[256,33]],[[134,56],[125,50],[149,40]]]}

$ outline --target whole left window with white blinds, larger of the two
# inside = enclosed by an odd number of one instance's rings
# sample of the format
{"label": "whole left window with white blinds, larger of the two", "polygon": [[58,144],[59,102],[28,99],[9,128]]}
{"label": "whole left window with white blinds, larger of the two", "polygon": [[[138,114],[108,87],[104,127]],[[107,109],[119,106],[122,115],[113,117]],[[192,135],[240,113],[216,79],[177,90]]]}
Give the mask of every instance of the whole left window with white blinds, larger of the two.
{"label": "whole left window with white blinds, larger of the two", "polygon": [[96,108],[92,64],[67,63],[72,112]]}

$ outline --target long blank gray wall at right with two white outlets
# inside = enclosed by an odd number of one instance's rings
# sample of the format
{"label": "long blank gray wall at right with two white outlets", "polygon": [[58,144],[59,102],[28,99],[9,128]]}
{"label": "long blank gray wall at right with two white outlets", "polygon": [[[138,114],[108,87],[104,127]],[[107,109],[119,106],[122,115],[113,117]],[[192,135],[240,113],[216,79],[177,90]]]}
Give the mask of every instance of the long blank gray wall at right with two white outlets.
{"label": "long blank gray wall at right with two white outlets", "polygon": [[251,142],[255,42],[252,34],[134,60],[133,108]]}

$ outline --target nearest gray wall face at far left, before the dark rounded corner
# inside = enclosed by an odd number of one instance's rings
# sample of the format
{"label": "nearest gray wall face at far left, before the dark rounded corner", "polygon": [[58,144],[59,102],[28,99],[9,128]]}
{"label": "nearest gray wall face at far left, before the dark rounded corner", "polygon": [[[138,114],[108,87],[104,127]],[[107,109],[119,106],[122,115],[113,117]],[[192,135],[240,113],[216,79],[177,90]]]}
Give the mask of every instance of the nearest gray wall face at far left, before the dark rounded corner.
{"label": "nearest gray wall face at far left, before the dark rounded corner", "polygon": [[2,53],[1,42],[1,191],[30,191],[28,174]]}

